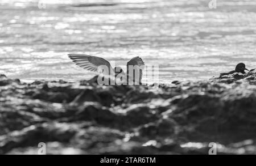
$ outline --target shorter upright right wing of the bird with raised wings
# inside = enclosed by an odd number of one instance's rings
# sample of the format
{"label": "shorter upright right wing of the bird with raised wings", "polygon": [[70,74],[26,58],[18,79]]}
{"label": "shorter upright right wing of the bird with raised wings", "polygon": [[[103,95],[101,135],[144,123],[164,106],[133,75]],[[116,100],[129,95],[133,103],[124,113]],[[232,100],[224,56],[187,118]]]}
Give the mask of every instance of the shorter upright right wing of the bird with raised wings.
{"label": "shorter upright right wing of the bird with raised wings", "polygon": [[[129,62],[127,62],[127,80],[129,83],[133,82],[135,84],[141,84],[142,80],[142,70],[145,67],[145,63],[143,62],[142,58],[134,57]],[[131,70],[133,69],[133,70]],[[129,73],[130,70],[130,73]],[[131,71],[133,74],[131,74]],[[135,72],[134,72],[135,71]],[[139,75],[137,75],[137,74]],[[137,78],[138,76],[138,78]]]}

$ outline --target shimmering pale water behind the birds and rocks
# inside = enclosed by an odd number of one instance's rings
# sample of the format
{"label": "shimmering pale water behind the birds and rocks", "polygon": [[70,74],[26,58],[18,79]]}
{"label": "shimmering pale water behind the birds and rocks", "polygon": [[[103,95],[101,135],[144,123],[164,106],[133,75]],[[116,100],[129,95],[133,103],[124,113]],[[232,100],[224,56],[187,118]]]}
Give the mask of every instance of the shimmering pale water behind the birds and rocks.
{"label": "shimmering pale water behind the birds and rocks", "polygon": [[0,73],[23,80],[79,80],[68,53],[159,65],[160,82],[209,79],[256,67],[256,1],[0,0]]}

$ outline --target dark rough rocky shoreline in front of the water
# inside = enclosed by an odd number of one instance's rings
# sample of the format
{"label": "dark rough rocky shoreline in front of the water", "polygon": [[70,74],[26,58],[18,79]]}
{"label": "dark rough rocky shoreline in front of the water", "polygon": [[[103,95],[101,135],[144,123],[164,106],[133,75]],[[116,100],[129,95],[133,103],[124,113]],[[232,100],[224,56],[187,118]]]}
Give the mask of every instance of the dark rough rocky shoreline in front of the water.
{"label": "dark rough rocky shoreline in front of the water", "polygon": [[0,154],[256,154],[255,131],[255,69],[158,90],[0,76]]}

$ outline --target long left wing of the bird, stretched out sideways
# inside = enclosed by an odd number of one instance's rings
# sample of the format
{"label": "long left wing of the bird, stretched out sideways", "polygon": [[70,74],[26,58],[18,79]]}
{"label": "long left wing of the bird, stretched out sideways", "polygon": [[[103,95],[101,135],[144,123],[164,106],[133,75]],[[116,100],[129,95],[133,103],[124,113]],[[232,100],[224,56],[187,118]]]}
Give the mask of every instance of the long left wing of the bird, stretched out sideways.
{"label": "long left wing of the bird, stretched out sideways", "polygon": [[[104,69],[104,75],[109,75],[114,73],[114,69],[110,65],[109,61],[104,58],[89,56],[86,54],[68,54],[68,57],[72,59],[76,65],[93,72],[102,73],[102,69]],[[105,67],[105,68],[104,68]],[[106,71],[106,67],[108,71]]]}

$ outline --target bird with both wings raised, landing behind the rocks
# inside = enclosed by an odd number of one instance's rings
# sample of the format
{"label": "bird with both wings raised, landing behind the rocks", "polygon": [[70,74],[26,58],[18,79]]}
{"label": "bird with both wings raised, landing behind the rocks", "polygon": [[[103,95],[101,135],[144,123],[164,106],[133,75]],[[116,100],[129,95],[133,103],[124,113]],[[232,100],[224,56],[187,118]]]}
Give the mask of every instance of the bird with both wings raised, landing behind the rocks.
{"label": "bird with both wings raised, landing behind the rocks", "polygon": [[[71,58],[72,61],[76,63],[76,65],[86,70],[103,74],[104,76],[106,76],[106,78],[111,79],[112,76],[116,78],[118,75],[122,75],[123,76],[122,77],[123,80],[121,79],[122,82],[130,83],[130,80],[132,80],[133,83],[135,84],[141,84],[142,70],[144,69],[144,62],[140,57],[134,57],[130,59],[129,62],[127,62],[126,74],[123,71],[123,69],[119,66],[114,67],[113,69],[109,61],[101,57],[89,56],[86,54],[68,54],[68,57]],[[131,72],[131,70],[129,69],[133,69],[132,71],[135,71],[135,73],[133,72],[133,75],[129,74],[129,71]],[[135,78],[135,76],[137,76],[136,73],[139,74],[138,79]],[[134,82],[135,80],[138,80],[138,82],[137,83]]]}

